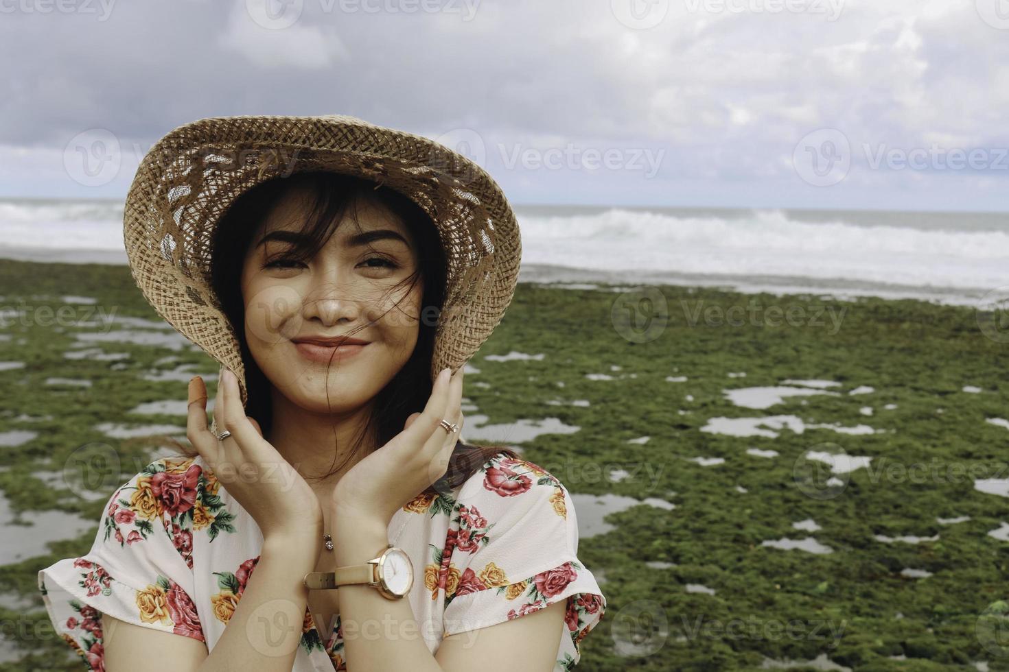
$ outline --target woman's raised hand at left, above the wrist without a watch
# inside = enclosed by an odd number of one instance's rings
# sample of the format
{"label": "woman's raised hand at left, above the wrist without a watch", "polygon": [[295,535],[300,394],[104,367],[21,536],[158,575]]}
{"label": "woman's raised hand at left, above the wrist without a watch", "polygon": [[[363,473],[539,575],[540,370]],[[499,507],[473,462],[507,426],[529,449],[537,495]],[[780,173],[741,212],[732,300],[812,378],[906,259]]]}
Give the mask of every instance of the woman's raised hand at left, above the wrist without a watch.
{"label": "woman's raised hand at left, above the wrist without a watch", "polygon": [[285,538],[322,550],[323,512],[302,476],[262,437],[259,423],[245,415],[238,380],[225,370],[218,380],[214,424],[231,435],[218,440],[207,426],[207,386],[196,376],[189,384],[186,436],[214,476],[259,526],[263,540]]}

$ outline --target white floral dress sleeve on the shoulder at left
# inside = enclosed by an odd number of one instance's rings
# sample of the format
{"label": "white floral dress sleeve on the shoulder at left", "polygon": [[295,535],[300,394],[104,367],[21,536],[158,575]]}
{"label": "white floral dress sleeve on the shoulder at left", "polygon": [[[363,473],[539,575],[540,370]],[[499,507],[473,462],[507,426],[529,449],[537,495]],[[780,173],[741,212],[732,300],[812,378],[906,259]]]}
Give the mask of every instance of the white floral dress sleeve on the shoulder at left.
{"label": "white floral dress sleeve on the shoulder at left", "polygon": [[91,550],[38,571],[57,634],[104,669],[101,615],[204,642],[193,594],[192,521],[202,468],[162,457],[109,498]]}

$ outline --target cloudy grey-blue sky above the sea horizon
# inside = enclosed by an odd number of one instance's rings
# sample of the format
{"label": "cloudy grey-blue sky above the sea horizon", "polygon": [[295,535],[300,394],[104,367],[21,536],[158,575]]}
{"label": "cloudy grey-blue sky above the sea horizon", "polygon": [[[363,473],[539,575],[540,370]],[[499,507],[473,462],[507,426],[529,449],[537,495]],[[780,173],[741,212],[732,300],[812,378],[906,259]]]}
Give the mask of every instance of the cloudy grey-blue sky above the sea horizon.
{"label": "cloudy grey-blue sky above the sea horizon", "polygon": [[0,196],[346,114],[521,204],[1009,210],[1009,0],[0,0]]}

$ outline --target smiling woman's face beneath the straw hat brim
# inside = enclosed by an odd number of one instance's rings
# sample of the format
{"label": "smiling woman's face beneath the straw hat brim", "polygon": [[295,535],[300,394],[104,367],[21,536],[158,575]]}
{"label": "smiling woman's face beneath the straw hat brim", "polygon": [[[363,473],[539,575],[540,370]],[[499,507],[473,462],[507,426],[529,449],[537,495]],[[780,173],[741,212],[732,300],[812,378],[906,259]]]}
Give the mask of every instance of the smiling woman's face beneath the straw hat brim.
{"label": "smiling woman's face beneath the straw hat brim", "polygon": [[[289,190],[252,236],[241,277],[245,338],[262,373],[292,403],[318,413],[352,411],[374,398],[417,345],[422,279],[396,288],[417,270],[417,246],[405,224],[368,195],[357,203],[359,228],[351,208],[314,258],[286,259],[306,209],[304,193]],[[296,344],[344,335],[367,345],[331,364]],[[328,360],[333,351],[317,350],[316,358],[320,352]]]}

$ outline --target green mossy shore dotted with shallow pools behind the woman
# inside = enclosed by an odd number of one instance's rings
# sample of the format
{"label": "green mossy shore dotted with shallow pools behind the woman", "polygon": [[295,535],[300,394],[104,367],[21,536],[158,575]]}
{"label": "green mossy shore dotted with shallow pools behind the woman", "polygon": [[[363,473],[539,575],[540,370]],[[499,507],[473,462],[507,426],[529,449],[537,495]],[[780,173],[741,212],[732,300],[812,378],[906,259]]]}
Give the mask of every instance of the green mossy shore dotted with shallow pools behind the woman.
{"label": "green mossy shore dotted with shallow pools behind the woman", "polygon": [[[0,294],[4,530],[23,524],[0,671],[80,670],[36,573],[88,551],[107,497],[172,452],[144,428],[184,435],[186,383],[213,393],[217,366],[125,266],[0,260]],[[574,498],[607,602],[576,669],[1009,669],[1009,333],[986,319],[520,284],[470,361],[463,435]]]}

